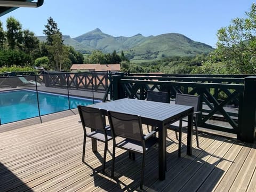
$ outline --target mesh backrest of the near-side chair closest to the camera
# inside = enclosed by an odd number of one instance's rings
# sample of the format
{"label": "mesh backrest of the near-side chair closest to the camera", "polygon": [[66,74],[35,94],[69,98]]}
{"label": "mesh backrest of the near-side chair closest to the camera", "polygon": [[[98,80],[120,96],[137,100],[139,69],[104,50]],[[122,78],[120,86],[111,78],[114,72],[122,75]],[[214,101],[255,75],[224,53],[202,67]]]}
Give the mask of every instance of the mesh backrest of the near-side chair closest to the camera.
{"label": "mesh backrest of the near-side chair closest to the camera", "polygon": [[142,141],[143,132],[141,118],[137,115],[108,111],[108,119],[115,136]]}

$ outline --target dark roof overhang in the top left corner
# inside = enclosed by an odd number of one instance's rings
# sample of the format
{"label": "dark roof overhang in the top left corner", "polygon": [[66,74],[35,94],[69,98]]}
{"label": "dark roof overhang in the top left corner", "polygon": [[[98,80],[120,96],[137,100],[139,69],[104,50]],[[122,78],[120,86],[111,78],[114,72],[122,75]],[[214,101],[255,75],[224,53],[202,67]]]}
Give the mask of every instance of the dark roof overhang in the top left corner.
{"label": "dark roof overhang in the top left corner", "polygon": [[2,1],[0,0],[0,17],[19,7],[39,7],[43,5],[44,0],[16,0],[16,1]]}

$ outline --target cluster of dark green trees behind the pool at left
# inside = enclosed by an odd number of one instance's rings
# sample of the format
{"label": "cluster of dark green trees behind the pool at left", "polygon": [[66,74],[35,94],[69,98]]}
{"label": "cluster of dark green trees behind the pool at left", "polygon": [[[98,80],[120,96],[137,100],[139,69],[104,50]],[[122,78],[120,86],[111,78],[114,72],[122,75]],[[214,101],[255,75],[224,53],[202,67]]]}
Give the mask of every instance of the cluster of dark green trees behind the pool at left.
{"label": "cluster of dark green trees behind the pool at left", "polygon": [[[75,51],[73,47],[63,45],[57,23],[51,17],[47,21],[49,23],[45,26],[44,33],[48,35],[49,43],[39,42],[32,31],[22,30],[21,23],[13,17],[7,18],[6,31],[0,21],[0,67],[40,65],[47,70],[69,70],[72,63],[83,63],[82,53]],[[54,35],[59,38],[53,37]],[[54,50],[56,48],[58,49]],[[47,57],[49,61],[37,60],[42,57]]]}

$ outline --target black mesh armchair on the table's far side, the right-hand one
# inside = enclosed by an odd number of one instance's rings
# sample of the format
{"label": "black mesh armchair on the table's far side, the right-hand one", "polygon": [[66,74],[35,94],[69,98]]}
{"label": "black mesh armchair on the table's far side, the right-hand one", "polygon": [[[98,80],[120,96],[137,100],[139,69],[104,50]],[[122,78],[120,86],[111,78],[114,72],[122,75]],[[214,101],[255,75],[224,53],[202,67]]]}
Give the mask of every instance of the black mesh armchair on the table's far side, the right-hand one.
{"label": "black mesh armchair on the table's far side, the right-hand one", "polygon": [[[197,147],[199,147],[199,141],[198,141],[198,130],[197,130],[197,118],[198,114],[201,114],[202,112],[199,111],[199,103],[200,103],[200,96],[196,95],[189,95],[189,94],[176,94],[175,104],[178,105],[186,105],[186,106],[193,106],[194,107],[194,115],[193,115],[193,125],[195,125],[195,131],[196,131],[196,144]],[[187,122],[187,119],[181,119],[179,122],[179,126],[175,124],[171,124],[167,126],[167,129],[175,130],[176,138],[179,140],[179,156],[181,153],[181,133],[182,128],[187,127],[182,126],[182,122]],[[177,129],[179,129],[179,137],[177,135]]]}

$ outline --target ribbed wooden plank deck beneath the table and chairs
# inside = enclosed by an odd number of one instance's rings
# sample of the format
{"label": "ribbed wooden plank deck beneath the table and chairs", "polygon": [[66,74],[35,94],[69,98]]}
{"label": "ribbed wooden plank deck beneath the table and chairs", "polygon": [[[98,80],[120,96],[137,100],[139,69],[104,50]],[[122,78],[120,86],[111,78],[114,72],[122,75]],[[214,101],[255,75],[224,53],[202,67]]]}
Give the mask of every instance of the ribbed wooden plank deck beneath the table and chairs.
{"label": "ribbed wooden plank deck beneath the table and chairs", "polygon": [[[70,112],[69,112],[70,113]],[[93,154],[86,143],[82,163],[83,130],[77,111],[0,126],[0,191],[140,191],[141,157],[132,161],[117,149],[115,178],[101,172],[103,145]],[[55,119],[54,119],[55,118]],[[43,122],[43,123],[41,123]],[[18,129],[16,129],[18,128]],[[186,143],[186,134],[183,143]],[[256,191],[256,143],[244,143],[210,133],[193,137],[193,155],[178,157],[173,131],[168,131],[167,172],[158,180],[157,146],[146,155],[146,191]],[[109,152],[112,143],[109,141]]]}

